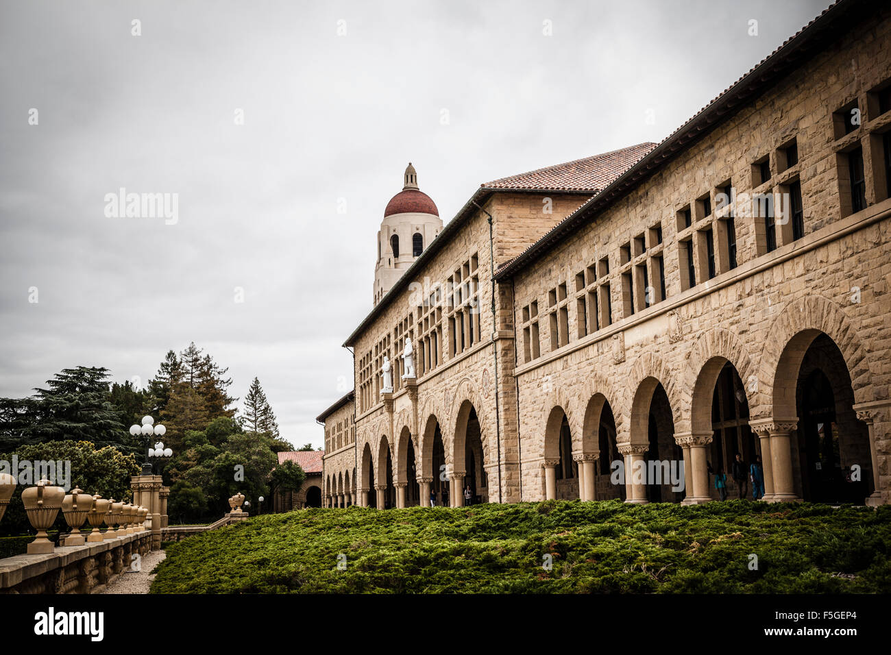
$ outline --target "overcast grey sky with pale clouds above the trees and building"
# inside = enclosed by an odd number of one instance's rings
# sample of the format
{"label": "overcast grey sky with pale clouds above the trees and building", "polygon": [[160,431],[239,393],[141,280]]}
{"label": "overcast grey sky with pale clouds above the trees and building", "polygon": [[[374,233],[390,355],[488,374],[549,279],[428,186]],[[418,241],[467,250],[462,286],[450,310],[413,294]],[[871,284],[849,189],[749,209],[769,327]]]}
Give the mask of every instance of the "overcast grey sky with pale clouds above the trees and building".
{"label": "overcast grey sky with pale clouds above the trees and building", "polygon": [[[320,446],[409,160],[447,222],[658,142],[828,4],[4,1],[0,396],[77,364],[144,384],[194,340]],[[175,219],[115,215],[121,188]]]}

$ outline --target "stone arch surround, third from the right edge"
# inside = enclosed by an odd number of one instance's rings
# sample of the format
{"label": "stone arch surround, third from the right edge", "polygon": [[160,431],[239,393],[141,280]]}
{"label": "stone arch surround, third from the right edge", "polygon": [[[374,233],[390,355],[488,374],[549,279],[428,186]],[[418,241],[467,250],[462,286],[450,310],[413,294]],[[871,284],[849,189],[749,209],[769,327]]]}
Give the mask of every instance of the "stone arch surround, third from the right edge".
{"label": "stone arch surround, third from the right edge", "polygon": [[[618,439],[619,441],[635,446],[647,445],[647,426],[650,421],[647,410],[649,410],[653,392],[659,384],[666,390],[674,425],[677,426],[681,422],[679,413],[681,403],[678,398],[677,384],[663,357],[653,353],[644,353],[639,356],[628,376],[628,382],[626,397],[631,398],[630,402],[625,403],[625,406],[629,408],[628,425],[625,432],[619,432],[622,435],[622,438]],[[618,429],[618,426],[616,427]]]}

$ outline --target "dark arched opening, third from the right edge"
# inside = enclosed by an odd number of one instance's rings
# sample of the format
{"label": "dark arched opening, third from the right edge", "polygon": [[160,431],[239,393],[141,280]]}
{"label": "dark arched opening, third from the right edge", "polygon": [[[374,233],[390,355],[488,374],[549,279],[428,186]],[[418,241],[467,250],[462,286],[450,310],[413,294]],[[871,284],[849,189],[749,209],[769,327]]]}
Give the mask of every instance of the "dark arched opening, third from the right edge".
{"label": "dark arched opening, third from the right edge", "polygon": [[[674,414],[668,394],[656,378],[645,378],[637,388],[630,427],[633,452],[625,457],[625,482],[629,486],[627,500],[635,503],[681,502],[685,485],[683,450],[674,441]],[[646,448],[645,453],[637,453],[642,447]]]}

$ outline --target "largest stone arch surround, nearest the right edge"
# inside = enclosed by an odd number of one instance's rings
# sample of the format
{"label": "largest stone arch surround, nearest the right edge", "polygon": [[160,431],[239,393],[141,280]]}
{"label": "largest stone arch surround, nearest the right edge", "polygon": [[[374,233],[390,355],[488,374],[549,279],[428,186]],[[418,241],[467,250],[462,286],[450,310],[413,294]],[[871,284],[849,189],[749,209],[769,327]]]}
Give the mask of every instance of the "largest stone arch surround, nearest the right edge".
{"label": "largest stone arch surround, nearest the right edge", "polygon": [[795,416],[797,371],[805,351],[821,332],[841,351],[854,400],[874,400],[870,357],[857,336],[859,327],[841,307],[823,296],[805,296],[784,307],[764,339],[758,369],[760,402],[753,415],[781,419]]}

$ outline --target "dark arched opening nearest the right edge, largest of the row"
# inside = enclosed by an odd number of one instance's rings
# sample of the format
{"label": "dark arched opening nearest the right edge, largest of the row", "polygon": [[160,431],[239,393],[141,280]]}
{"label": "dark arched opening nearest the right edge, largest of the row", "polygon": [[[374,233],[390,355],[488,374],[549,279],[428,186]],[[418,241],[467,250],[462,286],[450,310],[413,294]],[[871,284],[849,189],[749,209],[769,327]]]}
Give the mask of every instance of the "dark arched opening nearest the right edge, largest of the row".
{"label": "dark arched opening nearest the right edge, largest of the row", "polygon": [[[787,349],[791,345],[790,341]],[[778,377],[785,359],[784,351]],[[869,429],[857,420],[851,377],[835,341],[823,332],[814,334],[793,379],[798,417],[791,438],[796,493],[814,503],[863,504],[875,488]]]}

